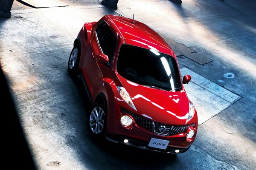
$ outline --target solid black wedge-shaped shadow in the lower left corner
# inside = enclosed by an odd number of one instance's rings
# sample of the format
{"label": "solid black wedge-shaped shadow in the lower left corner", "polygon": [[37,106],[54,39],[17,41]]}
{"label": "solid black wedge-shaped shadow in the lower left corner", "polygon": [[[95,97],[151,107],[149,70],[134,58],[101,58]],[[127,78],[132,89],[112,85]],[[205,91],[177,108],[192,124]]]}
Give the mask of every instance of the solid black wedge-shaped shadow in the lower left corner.
{"label": "solid black wedge-shaped shadow in the lower left corner", "polygon": [[2,91],[0,108],[3,116],[1,129],[4,159],[2,161],[12,167],[18,166],[19,169],[36,169],[1,67],[0,89]]}

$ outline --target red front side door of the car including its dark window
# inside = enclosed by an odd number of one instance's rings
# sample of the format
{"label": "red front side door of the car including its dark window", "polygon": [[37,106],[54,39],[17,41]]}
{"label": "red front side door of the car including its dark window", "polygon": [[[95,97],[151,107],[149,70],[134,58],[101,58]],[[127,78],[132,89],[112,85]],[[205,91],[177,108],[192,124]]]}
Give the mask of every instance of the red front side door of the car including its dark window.
{"label": "red front side door of the car including its dark window", "polygon": [[99,92],[102,87],[102,78],[109,76],[110,68],[100,62],[97,62],[95,56],[97,54],[105,54],[109,58],[111,64],[116,48],[117,37],[113,34],[111,28],[105,21],[99,24],[94,31],[91,39],[92,55],[88,59],[86,73],[90,83],[90,93],[92,98]]}

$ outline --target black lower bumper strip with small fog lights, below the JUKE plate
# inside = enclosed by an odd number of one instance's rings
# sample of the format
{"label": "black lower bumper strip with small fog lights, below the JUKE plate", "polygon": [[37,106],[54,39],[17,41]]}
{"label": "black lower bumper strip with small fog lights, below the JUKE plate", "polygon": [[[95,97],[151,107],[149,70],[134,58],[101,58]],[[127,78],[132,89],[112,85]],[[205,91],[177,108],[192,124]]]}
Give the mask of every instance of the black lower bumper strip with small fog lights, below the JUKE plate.
{"label": "black lower bumper strip with small fog lights, below the JUKE plate", "polygon": [[[158,148],[154,148],[154,147],[149,147],[147,143],[143,142],[143,141],[139,141],[137,139],[132,139],[132,138],[127,138],[125,136],[120,136],[120,135],[112,135],[110,133],[105,132],[105,137],[107,140],[114,142],[114,143],[121,143],[121,144],[126,144],[132,147],[137,147],[143,150],[151,150],[154,152],[160,152],[160,153],[172,153],[172,154],[177,154],[175,152],[175,150],[180,150],[178,153],[184,153],[187,150],[189,150],[188,148],[180,148],[180,147],[170,147],[168,146],[166,148],[166,150],[164,149],[158,149]],[[128,142],[125,143],[124,140],[128,139]]]}

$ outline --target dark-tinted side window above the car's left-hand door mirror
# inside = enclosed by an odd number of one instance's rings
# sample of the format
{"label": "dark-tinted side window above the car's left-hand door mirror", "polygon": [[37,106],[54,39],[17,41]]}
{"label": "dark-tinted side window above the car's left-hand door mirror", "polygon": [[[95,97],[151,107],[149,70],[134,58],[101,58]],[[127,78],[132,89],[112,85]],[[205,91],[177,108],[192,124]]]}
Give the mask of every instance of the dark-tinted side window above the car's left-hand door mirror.
{"label": "dark-tinted side window above the car's left-hand door mirror", "polygon": [[115,35],[105,22],[96,29],[96,35],[103,54],[106,54],[111,62],[117,42]]}

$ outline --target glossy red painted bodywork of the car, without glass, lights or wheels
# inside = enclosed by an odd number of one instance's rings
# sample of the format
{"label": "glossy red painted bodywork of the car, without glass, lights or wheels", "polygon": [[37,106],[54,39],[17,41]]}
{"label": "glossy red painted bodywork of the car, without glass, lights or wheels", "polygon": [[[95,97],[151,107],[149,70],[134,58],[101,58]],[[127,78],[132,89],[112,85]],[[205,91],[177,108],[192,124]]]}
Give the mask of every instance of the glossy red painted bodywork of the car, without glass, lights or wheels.
{"label": "glossy red painted bodywork of the car, without glass, lights or wheels", "polygon": [[[189,148],[195,140],[198,118],[195,111],[192,119],[187,121],[190,101],[183,84],[181,83],[182,88],[180,91],[159,90],[131,82],[119,75],[116,70],[119,49],[122,44],[154,49],[174,57],[177,62],[172,48],[155,31],[143,23],[138,21],[132,23],[132,21],[125,17],[106,15],[98,22],[85,23],[74,42],[75,45],[80,47],[79,70],[92,102],[98,101],[99,96],[103,96],[102,98],[105,100],[104,103],[108,113],[105,132],[115,136],[126,136],[127,139],[144,143],[148,143],[151,138],[163,139],[170,141],[169,147]],[[111,28],[117,40],[112,62],[110,60],[108,66],[106,65],[108,56],[103,54],[96,35],[97,27],[103,22],[107,23]],[[186,81],[184,79],[182,81],[180,77],[180,82],[189,82],[191,79],[189,77],[189,75],[186,75]],[[136,110],[122,99],[117,86],[126,89]],[[125,109],[127,113],[121,112],[121,109]],[[164,136],[140,125],[132,114],[145,121],[163,126],[173,126],[173,128],[175,128],[174,126],[195,125],[194,127],[186,128],[181,133]],[[123,127],[120,123],[122,115],[130,116],[134,123],[128,128]],[[195,130],[195,135],[188,141],[186,140],[186,133],[191,128]]]}

